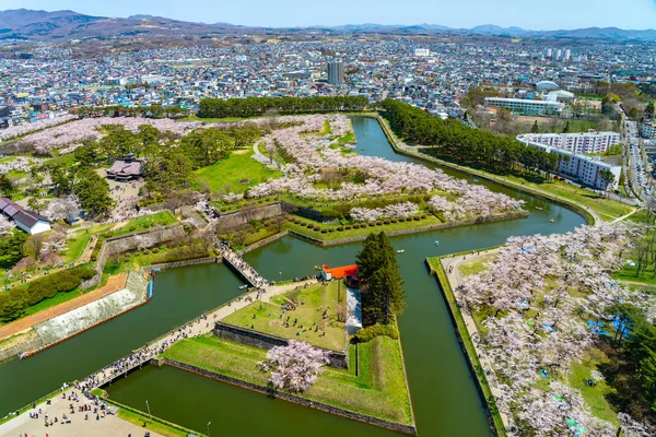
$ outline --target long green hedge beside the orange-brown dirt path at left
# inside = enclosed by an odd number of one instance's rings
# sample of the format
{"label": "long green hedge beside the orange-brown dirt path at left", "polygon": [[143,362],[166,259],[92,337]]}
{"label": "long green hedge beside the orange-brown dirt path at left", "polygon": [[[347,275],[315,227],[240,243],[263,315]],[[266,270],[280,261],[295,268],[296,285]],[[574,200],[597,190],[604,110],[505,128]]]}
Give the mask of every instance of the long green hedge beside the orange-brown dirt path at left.
{"label": "long green hedge beside the orange-brown dirt path at left", "polygon": [[71,292],[78,288],[82,281],[93,277],[95,273],[93,269],[77,267],[39,277],[9,293],[2,293],[0,294],[0,319],[15,320],[23,315],[26,307],[54,297],[57,293]]}

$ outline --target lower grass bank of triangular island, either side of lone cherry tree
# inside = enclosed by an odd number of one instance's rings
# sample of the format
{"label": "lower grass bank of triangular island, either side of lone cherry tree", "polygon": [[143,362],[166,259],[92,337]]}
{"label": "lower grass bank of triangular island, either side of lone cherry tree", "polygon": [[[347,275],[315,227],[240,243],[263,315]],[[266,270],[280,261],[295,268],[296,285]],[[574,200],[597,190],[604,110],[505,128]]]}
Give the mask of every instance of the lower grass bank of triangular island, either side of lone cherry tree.
{"label": "lower grass bank of triangular island, either side of lone cherry tree", "polygon": [[[201,336],[176,343],[164,356],[247,382],[267,386],[269,374],[262,373],[258,366],[258,363],[266,358],[266,354],[261,349],[214,336]],[[351,370],[325,367],[317,382],[300,395],[386,421],[412,424],[410,397],[406,389],[398,341],[378,336],[360,344],[358,355],[358,376],[354,371],[355,363],[351,363]]]}

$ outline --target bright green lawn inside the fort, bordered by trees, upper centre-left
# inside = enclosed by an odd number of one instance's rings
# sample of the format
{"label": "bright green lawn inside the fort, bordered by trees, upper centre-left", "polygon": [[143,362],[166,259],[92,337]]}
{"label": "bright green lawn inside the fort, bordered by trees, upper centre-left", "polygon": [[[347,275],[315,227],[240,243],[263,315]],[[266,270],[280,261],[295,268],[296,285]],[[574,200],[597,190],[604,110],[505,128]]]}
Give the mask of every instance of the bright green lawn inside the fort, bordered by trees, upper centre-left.
{"label": "bright green lawn inside the fort, bordered by trees, upper centre-left", "polygon": [[[196,187],[199,188],[202,184],[210,190],[218,191],[230,186],[233,192],[244,192],[249,187],[282,176],[281,172],[272,170],[250,156],[253,151],[233,153],[227,160],[195,170]],[[249,181],[242,184],[242,179]]]}

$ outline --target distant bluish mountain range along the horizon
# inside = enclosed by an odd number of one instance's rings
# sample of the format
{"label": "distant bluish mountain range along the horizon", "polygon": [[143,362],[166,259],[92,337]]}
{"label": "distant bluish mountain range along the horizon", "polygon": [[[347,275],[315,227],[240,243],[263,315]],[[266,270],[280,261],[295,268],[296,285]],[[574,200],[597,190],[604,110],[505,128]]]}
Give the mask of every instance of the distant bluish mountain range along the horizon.
{"label": "distant bluish mountain range along the horizon", "polygon": [[[131,15],[127,19],[84,15],[73,11],[33,11],[27,9],[0,11],[0,39],[71,40],[116,36],[220,35],[253,32],[284,32],[285,28],[236,26],[227,23],[191,23],[153,15]],[[292,28],[290,28],[292,29]],[[342,26],[294,27],[293,31],[333,33],[438,34],[459,33],[490,36],[534,38],[596,38],[612,40],[656,40],[656,29],[626,31],[617,27],[588,27],[561,31],[529,31],[485,24],[471,28],[453,28],[437,24],[386,25],[348,24]]]}

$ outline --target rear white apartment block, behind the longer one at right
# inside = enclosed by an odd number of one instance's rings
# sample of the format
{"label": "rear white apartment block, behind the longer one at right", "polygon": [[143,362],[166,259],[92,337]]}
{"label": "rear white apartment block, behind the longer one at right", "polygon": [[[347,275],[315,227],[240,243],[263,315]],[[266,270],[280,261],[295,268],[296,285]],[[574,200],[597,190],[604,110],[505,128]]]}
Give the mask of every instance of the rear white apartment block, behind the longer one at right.
{"label": "rear white apartment block, behind the longer one at right", "polygon": [[620,143],[617,132],[527,133],[522,141],[532,141],[573,153],[604,153]]}

